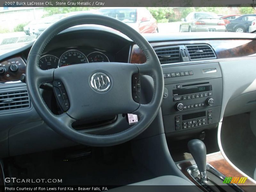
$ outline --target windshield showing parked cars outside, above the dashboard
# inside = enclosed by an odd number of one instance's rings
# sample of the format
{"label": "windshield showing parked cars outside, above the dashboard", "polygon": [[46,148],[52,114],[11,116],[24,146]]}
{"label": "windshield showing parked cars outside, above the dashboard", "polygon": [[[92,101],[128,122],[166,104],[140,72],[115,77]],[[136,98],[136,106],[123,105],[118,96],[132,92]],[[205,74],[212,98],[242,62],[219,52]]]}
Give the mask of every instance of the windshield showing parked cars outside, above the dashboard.
{"label": "windshield showing parked cars outside, above the dashboard", "polygon": [[[0,54],[35,41],[56,21],[77,14],[109,16],[152,35],[256,30],[253,7],[0,7]],[[246,24],[238,28],[234,22]]]}

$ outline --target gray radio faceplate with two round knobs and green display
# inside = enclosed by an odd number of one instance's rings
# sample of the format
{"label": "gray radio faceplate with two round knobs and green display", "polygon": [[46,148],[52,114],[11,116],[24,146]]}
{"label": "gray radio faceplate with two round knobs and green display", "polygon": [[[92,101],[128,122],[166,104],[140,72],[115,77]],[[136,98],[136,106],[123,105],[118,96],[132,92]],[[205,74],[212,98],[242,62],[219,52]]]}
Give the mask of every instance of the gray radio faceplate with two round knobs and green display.
{"label": "gray radio faceplate with two round knobs and green display", "polygon": [[168,97],[163,99],[163,115],[206,110],[220,106],[222,102],[222,78],[166,84],[164,87],[168,91]]}

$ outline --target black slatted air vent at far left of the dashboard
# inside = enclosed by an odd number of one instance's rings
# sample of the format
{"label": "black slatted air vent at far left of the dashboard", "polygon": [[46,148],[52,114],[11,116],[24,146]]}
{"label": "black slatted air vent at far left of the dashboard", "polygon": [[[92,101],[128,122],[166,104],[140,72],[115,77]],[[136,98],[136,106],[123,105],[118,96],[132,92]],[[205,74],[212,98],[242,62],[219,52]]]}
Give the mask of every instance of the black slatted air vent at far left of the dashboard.
{"label": "black slatted air vent at far left of the dashboard", "polygon": [[30,108],[27,89],[0,92],[0,112]]}

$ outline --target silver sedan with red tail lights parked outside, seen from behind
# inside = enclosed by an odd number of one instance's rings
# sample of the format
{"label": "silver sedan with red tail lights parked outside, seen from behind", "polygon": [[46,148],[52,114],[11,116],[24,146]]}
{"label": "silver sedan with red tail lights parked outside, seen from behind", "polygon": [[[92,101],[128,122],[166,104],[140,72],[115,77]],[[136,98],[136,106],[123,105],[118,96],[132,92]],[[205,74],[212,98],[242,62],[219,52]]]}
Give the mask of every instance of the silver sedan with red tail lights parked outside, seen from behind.
{"label": "silver sedan with red tail lights parked outside, seen from behind", "polygon": [[225,22],[212,12],[191,12],[180,24],[180,32],[225,32]]}

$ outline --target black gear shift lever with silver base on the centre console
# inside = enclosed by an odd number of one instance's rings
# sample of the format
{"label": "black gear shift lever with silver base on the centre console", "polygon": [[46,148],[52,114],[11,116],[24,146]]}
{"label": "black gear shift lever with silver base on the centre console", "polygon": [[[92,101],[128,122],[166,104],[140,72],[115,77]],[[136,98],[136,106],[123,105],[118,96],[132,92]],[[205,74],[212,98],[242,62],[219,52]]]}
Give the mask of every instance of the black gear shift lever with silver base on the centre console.
{"label": "black gear shift lever with silver base on the centre console", "polygon": [[204,142],[198,139],[190,140],[188,141],[188,149],[194,157],[201,179],[206,181],[206,148]]}

